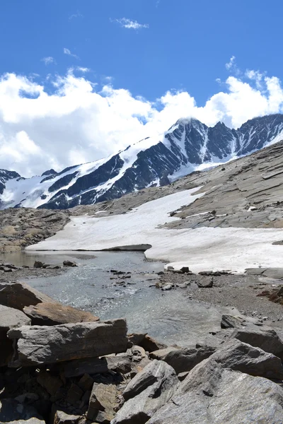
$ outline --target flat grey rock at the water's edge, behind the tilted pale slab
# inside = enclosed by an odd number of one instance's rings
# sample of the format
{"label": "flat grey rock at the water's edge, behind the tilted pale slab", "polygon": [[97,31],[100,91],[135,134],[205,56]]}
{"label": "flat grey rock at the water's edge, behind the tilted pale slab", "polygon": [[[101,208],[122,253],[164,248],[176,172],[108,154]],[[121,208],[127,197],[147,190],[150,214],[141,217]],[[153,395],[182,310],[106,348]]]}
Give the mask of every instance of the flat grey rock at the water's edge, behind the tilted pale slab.
{"label": "flat grey rock at the water's edge, behind the tilted pale slab", "polygon": [[209,358],[215,349],[212,347],[203,347],[198,349],[175,349],[168,348],[161,351],[155,351],[149,354],[149,358],[164,360],[174,368],[175,372],[190,371],[202,360]]}

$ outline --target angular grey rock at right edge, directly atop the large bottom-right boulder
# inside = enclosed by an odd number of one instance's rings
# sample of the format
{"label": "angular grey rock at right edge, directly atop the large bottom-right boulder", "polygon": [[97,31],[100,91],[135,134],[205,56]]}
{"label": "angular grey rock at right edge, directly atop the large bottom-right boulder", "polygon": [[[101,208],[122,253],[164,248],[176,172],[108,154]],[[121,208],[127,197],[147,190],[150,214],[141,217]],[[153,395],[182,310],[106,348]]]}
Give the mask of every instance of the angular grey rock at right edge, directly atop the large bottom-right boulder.
{"label": "angular grey rock at right edge, directly atop the large bottom-right boulder", "polygon": [[282,362],[277,356],[236,339],[224,343],[209,359],[219,363],[221,367],[249,375],[283,378]]}

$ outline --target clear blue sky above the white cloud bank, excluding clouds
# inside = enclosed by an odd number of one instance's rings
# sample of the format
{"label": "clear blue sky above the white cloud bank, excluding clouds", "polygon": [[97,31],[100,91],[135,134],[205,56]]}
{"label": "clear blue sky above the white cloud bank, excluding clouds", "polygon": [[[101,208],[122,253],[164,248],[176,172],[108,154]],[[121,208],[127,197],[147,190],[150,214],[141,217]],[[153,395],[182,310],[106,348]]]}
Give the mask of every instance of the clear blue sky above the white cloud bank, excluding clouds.
{"label": "clear blue sky above the white cloud bank, excluding clouds", "polygon": [[[78,65],[151,101],[185,89],[203,104],[232,55],[240,68],[282,76],[282,12],[276,0],[2,0],[0,72],[45,76]],[[121,18],[149,28],[111,22]]]}

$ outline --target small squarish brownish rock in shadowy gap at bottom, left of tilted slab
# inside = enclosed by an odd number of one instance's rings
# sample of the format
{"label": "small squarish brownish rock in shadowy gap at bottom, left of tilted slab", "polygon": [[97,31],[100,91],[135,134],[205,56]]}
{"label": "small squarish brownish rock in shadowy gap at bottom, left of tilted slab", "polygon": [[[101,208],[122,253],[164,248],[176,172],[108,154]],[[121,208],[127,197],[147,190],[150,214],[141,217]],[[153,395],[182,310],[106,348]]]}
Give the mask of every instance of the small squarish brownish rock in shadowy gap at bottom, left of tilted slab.
{"label": "small squarish brownish rock in shadowy gap at bottom, left of tilted slab", "polygon": [[97,423],[109,424],[115,416],[116,393],[114,384],[93,384],[86,418]]}

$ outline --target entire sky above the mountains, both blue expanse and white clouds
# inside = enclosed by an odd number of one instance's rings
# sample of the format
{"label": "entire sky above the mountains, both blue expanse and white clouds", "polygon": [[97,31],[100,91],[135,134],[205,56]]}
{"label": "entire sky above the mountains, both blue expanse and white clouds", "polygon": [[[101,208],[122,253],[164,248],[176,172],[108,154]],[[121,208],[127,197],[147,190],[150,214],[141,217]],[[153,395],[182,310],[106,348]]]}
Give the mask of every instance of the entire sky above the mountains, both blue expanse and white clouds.
{"label": "entire sky above the mountains, both blue expanse and white clouds", "polygon": [[97,160],[178,118],[282,112],[282,1],[1,0],[0,167]]}

